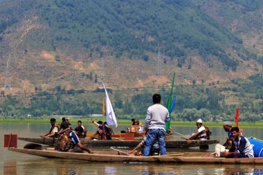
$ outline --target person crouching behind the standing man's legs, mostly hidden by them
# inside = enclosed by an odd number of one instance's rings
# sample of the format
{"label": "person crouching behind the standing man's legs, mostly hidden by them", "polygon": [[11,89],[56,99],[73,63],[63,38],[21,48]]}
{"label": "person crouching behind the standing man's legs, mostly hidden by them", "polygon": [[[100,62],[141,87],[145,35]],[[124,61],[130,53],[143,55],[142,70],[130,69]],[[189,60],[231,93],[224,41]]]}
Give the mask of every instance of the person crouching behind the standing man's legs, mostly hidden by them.
{"label": "person crouching behind the standing man's legs, mostly hidden by them", "polygon": [[[143,156],[143,149],[146,145],[146,138],[147,138],[146,135],[147,135],[147,130],[145,131],[145,137],[143,138],[143,140],[134,149],[129,151],[128,154],[134,153],[134,151],[136,151],[136,153],[134,154],[135,156]],[[151,156],[156,155],[156,154],[158,155],[159,152],[160,152],[159,145],[158,145],[157,140],[155,140],[154,145],[152,145],[150,155]]]}

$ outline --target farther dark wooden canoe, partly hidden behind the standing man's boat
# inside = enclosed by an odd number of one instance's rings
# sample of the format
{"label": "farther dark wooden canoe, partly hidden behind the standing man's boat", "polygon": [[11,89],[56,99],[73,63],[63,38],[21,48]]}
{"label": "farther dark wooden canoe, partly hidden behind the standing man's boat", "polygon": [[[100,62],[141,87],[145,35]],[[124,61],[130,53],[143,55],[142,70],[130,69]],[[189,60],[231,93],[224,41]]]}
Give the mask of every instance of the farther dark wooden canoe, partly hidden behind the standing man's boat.
{"label": "farther dark wooden canoe, partly hidden behind the standing man's boat", "polygon": [[[54,146],[57,139],[55,138],[18,138],[27,142],[35,142],[43,145]],[[82,144],[86,147],[136,147],[140,140],[89,140],[82,138],[80,139]],[[218,143],[219,140],[167,140],[165,141],[167,148],[187,148],[187,147],[199,147],[202,145],[211,145]]]}

